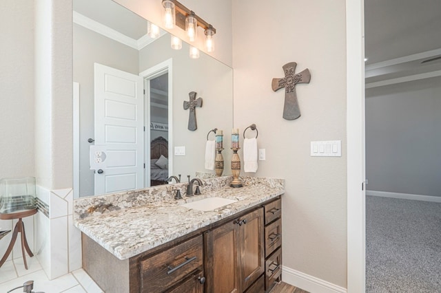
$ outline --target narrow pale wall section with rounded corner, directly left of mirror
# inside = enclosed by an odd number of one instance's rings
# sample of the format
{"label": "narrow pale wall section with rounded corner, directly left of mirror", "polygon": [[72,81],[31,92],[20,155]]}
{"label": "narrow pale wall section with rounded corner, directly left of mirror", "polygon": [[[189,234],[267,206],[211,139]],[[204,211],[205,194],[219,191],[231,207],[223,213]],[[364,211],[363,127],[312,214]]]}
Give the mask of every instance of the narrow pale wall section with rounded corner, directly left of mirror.
{"label": "narrow pale wall section with rounded corner, directly left of mirror", "polygon": [[35,175],[72,188],[72,1],[35,1]]}

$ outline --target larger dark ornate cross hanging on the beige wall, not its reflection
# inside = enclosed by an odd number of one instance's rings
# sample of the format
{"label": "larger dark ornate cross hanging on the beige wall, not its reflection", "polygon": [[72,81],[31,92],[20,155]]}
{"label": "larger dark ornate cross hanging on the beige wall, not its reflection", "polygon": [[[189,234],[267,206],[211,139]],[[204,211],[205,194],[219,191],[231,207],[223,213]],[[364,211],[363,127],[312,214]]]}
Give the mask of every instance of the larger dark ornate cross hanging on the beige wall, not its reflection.
{"label": "larger dark ornate cross hanging on the beige wall, not its reflection", "polygon": [[271,86],[273,91],[277,91],[285,87],[285,105],[283,106],[283,118],[286,120],[294,120],[300,117],[300,107],[296,94],[296,85],[298,83],[309,83],[311,74],[309,69],[296,74],[297,63],[291,62],[283,65],[285,72],[284,78],[273,78]]}

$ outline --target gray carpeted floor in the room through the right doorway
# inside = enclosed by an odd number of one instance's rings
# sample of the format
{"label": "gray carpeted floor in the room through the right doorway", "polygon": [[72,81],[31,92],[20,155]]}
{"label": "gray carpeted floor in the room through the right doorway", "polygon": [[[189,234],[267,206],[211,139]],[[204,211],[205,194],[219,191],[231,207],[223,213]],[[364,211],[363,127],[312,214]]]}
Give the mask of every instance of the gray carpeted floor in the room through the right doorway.
{"label": "gray carpeted floor in the room through the right doorway", "polygon": [[366,197],[366,292],[441,292],[441,204]]}

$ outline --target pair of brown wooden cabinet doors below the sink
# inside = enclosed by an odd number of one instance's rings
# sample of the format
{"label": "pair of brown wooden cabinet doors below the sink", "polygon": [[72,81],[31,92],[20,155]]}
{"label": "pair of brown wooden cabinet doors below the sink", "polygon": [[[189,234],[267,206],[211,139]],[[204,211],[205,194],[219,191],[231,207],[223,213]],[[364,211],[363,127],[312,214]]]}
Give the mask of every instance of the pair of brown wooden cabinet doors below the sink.
{"label": "pair of brown wooden cabinet doors below the sink", "polygon": [[206,292],[245,292],[265,271],[263,208],[208,230],[204,237]]}

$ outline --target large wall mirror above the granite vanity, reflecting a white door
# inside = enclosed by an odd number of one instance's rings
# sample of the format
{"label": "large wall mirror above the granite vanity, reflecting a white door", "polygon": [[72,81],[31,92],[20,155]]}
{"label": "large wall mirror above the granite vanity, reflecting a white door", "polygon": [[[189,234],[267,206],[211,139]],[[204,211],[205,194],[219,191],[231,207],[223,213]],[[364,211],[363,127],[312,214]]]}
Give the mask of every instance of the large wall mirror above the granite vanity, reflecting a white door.
{"label": "large wall mirror above the granite vanity, reflecting a white door", "polygon": [[[204,169],[207,133],[224,131],[224,175],[233,128],[233,71],[112,0],[74,0],[74,191],[76,197],[163,184]],[[189,92],[203,99],[189,131]],[[214,140],[214,134],[209,135]],[[177,148],[177,149],[176,149]],[[185,155],[175,151],[183,151]]]}

